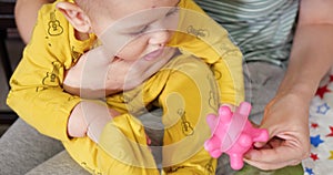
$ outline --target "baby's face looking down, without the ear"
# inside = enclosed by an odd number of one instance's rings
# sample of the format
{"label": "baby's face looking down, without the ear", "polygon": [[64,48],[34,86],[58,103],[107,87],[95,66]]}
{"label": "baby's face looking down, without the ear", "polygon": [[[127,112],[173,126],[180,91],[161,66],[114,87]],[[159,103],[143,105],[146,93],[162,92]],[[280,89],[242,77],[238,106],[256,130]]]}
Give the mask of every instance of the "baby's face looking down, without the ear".
{"label": "baby's face looking down, without the ear", "polygon": [[165,44],[178,27],[179,0],[107,1],[112,1],[107,7],[109,16],[95,18],[92,29],[109,54],[149,62],[171,58],[169,52],[174,49]]}

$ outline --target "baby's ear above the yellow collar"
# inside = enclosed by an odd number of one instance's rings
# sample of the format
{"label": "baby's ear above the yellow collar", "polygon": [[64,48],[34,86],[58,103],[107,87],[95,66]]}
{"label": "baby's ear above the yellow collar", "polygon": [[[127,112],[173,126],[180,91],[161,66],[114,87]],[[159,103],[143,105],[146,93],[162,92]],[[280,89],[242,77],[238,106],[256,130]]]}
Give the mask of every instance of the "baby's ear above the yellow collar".
{"label": "baby's ear above the yellow collar", "polygon": [[79,32],[90,32],[90,19],[78,4],[71,2],[58,2],[56,7]]}

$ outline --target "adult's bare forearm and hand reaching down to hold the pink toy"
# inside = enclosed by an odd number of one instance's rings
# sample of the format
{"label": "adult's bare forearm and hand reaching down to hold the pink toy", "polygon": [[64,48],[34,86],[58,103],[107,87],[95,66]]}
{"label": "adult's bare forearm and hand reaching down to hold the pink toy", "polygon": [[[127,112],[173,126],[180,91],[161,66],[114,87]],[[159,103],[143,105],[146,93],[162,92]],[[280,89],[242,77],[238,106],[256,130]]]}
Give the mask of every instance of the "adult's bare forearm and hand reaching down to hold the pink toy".
{"label": "adult's bare forearm and hand reaching down to hold the pink toy", "polygon": [[275,97],[265,107],[261,127],[271,141],[246,155],[262,169],[299,164],[309,156],[309,107],[321,79],[333,63],[333,1],[303,0],[289,69]]}

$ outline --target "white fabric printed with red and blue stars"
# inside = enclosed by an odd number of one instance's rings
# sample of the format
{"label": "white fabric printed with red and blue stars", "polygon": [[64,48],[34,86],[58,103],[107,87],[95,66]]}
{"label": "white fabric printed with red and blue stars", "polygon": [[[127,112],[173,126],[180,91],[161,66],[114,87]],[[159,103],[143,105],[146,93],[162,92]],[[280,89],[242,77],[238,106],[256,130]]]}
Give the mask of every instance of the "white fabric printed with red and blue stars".
{"label": "white fabric printed with red and blue stars", "polygon": [[305,175],[333,172],[333,74],[327,75],[310,109],[311,154],[303,161]]}

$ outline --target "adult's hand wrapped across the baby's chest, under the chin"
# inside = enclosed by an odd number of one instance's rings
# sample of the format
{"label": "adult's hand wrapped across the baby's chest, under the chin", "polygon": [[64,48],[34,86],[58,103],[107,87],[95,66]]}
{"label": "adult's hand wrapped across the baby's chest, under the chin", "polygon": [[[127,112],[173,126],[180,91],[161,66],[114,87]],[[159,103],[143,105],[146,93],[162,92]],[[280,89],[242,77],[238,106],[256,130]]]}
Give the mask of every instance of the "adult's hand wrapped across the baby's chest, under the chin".
{"label": "adult's hand wrapped across the baby's chest, under the chin", "polygon": [[147,62],[144,59],[107,58],[102,48],[95,48],[84,53],[78,63],[65,72],[63,89],[82,97],[104,97],[137,87],[168,61],[169,59]]}

